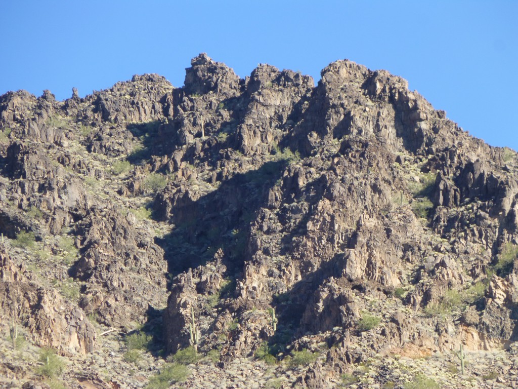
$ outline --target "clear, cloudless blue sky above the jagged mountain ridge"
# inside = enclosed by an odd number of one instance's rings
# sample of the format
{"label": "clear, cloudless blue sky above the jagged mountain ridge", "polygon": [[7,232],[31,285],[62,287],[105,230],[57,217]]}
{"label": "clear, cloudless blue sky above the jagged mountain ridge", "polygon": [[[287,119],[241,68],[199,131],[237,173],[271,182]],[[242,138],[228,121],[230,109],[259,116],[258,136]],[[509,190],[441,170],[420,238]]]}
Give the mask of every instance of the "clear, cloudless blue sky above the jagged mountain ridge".
{"label": "clear, cloudless blue sky above the jagged mountain ridge", "polygon": [[12,0],[0,4],[0,94],[59,100],[159,73],[182,86],[199,52],[318,81],[338,59],[386,69],[494,146],[518,150],[518,1]]}

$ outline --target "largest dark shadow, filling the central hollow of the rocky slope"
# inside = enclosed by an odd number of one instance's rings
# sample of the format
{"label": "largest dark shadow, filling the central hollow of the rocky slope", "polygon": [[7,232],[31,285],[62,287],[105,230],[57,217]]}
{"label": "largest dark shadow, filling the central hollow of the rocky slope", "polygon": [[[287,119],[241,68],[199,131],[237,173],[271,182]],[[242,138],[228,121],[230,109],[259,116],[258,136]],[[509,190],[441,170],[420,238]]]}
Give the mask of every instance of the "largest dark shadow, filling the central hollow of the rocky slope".
{"label": "largest dark shadow, filling the central hollow of the rocky slope", "polygon": [[227,271],[241,271],[250,223],[263,206],[269,188],[280,178],[286,161],[266,162],[257,170],[237,174],[221,186],[171,211],[176,228],[157,239],[165,252],[169,276],[211,260],[218,249],[225,254]]}

